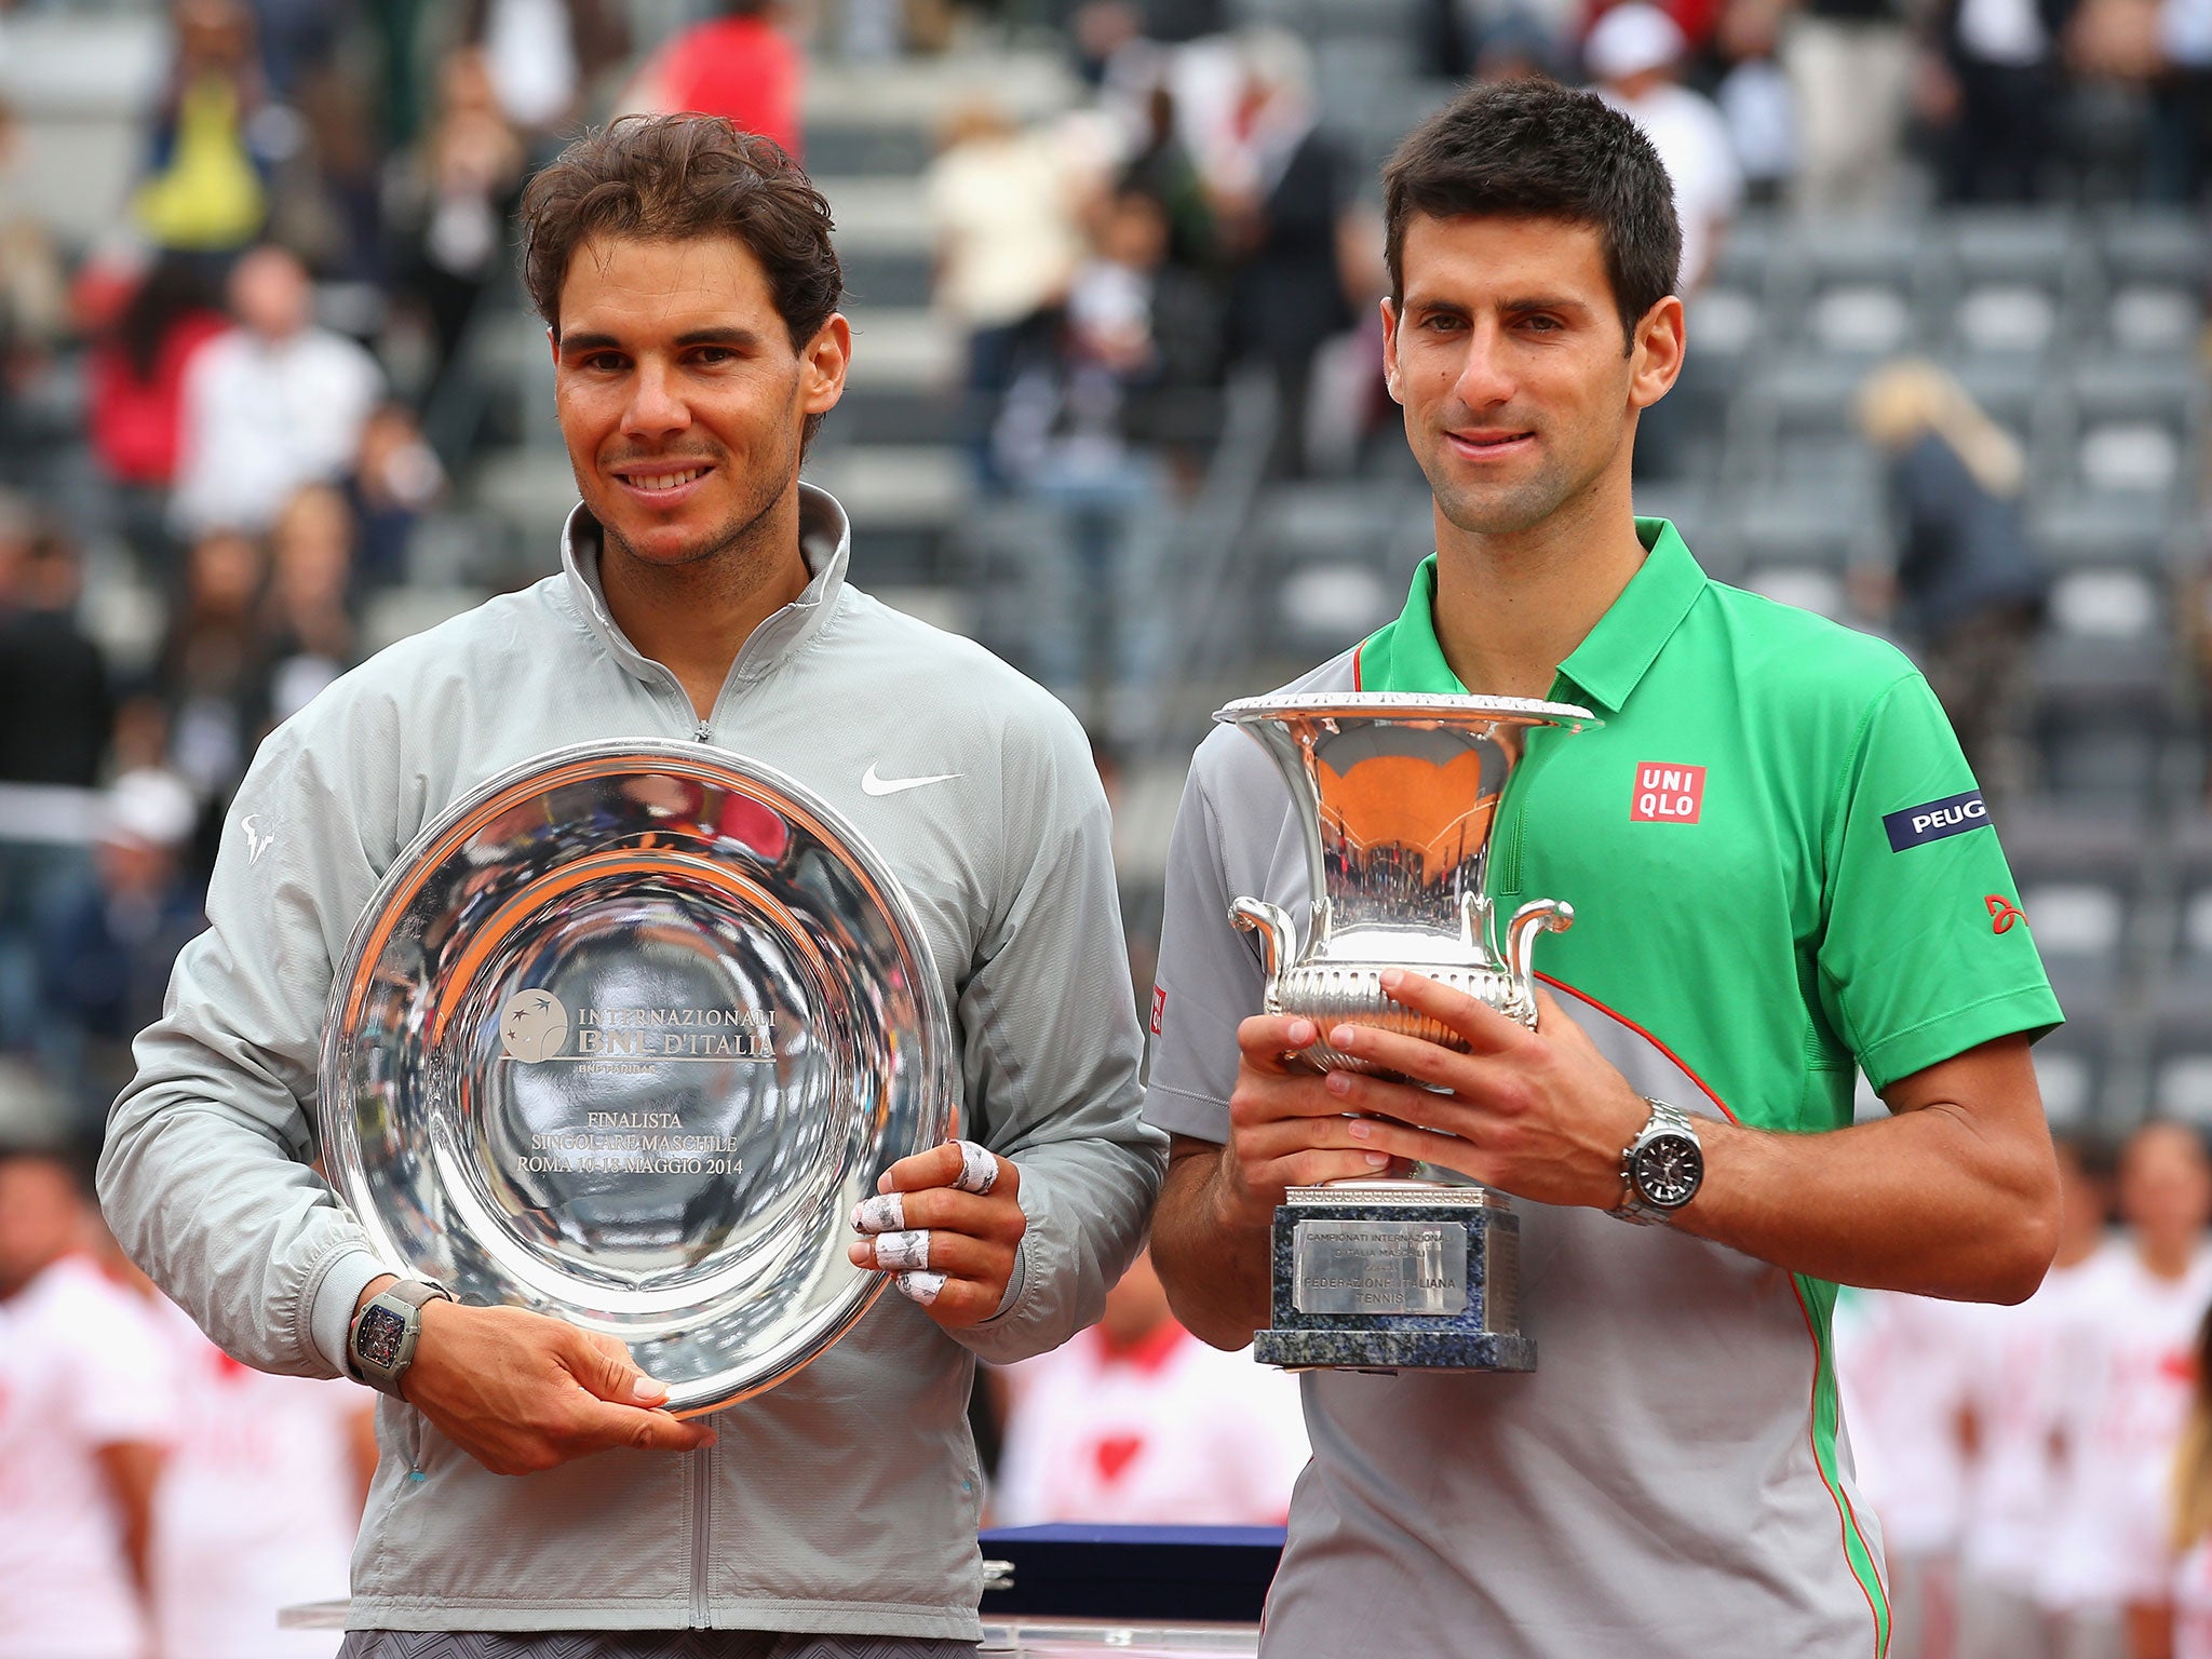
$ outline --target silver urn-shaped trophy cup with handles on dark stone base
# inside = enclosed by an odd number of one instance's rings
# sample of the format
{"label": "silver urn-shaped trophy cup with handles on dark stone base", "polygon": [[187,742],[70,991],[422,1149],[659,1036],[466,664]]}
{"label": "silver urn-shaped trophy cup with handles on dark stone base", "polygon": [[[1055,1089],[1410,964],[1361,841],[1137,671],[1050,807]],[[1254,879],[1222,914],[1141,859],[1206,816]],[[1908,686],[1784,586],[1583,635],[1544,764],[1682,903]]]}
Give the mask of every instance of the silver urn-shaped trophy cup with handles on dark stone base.
{"label": "silver urn-shaped trophy cup with handles on dark stone base", "polygon": [[[1303,1015],[1316,1071],[1376,1071],[1329,1046],[1340,1024],[1451,1048],[1449,1026],[1383,993],[1413,969],[1535,1024],[1535,936],[1573,922],[1535,898],[1504,942],[1484,894],[1491,832],[1528,730],[1597,726],[1586,708],[1522,697],[1336,692],[1250,697],[1214,719],[1243,728],[1290,783],[1314,894],[1301,949],[1290,911],[1239,898],[1230,918],[1265,947],[1267,1013]],[[1520,1219],[1502,1192],[1416,1166],[1405,1181],[1290,1188],[1274,1212],[1265,1365],[1360,1371],[1528,1371],[1520,1327]]]}

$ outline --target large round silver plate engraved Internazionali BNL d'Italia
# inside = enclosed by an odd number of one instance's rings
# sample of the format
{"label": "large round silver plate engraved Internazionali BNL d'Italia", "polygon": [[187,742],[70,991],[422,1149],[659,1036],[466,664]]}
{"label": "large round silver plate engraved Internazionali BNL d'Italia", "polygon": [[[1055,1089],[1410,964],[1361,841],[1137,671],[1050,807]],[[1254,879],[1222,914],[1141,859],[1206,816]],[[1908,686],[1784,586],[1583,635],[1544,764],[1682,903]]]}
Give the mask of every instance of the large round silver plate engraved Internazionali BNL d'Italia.
{"label": "large round silver plate engraved Internazionali BNL d'Italia", "polygon": [[953,1133],[905,894],[790,779],[588,743],[442,812],[332,987],[330,1175],[398,1272],[628,1343],[681,1416],[883,1294],[854,1203]]}

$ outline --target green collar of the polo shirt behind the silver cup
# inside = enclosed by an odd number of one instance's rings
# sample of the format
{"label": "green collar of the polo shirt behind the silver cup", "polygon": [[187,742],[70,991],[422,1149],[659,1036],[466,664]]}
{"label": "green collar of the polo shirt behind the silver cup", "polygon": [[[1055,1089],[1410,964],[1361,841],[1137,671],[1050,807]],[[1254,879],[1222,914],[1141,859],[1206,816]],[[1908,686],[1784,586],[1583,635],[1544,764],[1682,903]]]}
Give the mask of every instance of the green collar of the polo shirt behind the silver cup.
{"label": "green collar of the polo shirt behind the silver cup", "polygon": [[[1559,664],[1559,677],[1573,681],[1608,714],[1621,712],[1621,703],[1644,679],[1644,670],[1652,666],[1666,641],[1674,637],[1674,628],[1690,615],[1697,595],[1705,591],[1705,573],[1668,520],[1639,518],[1637,538],[1646,546],[1644,566],[1628,577],[1621,597]],[[1396,622],[1367,637],[1356,661],[1360,690],[1444,695],[1467,690],[1451,672],[1451,664],[1444,661],[1444,648],[1436,637],[1433,553],[1413,571],[1413,588],[1407,593],[1405,611]]]}

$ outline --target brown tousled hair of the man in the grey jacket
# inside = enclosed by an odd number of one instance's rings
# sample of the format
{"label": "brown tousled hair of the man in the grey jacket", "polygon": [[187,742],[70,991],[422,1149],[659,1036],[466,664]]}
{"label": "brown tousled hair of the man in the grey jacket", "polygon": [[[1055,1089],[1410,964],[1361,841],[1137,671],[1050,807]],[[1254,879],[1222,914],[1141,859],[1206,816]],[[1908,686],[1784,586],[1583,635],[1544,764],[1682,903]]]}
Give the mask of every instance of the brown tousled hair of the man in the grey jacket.
{"label": "brown tousled hair of the man in the grey jacket", "polygon": [[[522,192],[522,283],[560,338],[568,261],[593,237],[743,243],[805,349],[845,299],[830,201],[783,146],[723,115],[624,115],[591,128]],[[807,418],[807,438],[821,416]]]}

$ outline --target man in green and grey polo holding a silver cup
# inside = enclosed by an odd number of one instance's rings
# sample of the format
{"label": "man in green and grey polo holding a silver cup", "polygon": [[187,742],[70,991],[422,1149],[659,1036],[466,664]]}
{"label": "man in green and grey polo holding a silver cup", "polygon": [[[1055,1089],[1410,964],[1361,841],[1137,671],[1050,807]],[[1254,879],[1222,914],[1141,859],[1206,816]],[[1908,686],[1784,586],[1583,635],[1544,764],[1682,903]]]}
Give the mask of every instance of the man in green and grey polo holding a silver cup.
{"label": "man in green and grey polo holding a silver cup", "polygon": [[[1221,1347],[1267,1323],[1287,1186],[1429,1159],[1524,1201],[1542,1345],[1517,1376],[1307,1374],[1263,1655],[1880,1655],[1834,1287],[2037,1285],[2057,1177],[2028,1044],[2057,1002],[1927,681],[1632,515],[1637,414],[1683,356],[1639,128],[1475,88],[1385,186],[1385,367],[1436,555],[1398,622],[1287,690],[1551,697],[1604,726],[1531,737],[1491,843],[1498,905],[1575,905],[1537,1031],[1407,973],[1394,995],[1471,1053],[1329,1033],[1429,1088],[1285,1066],[1316,1031],[1259,1013],[1228,905],[1303,914],[1290,799],[1237,730],[1192,763],[1146,1099],[1175,1135],[1152,1256],[1183,1323]],[[1851,1126],[1858,1068],[1887,1119]],[[1632,1181],[1626,1148],[1677,1113],[1701,1181]]]}

